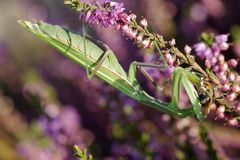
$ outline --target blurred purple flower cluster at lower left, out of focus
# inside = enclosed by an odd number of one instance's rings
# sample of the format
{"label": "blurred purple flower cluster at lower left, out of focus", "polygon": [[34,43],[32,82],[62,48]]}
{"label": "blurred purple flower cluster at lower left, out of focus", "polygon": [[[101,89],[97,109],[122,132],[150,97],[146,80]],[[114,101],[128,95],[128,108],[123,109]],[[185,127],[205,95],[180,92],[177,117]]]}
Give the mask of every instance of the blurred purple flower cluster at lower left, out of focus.
{"label": "blurred purple flower cluster at lower left, out of focus", "polygon": [[[51,110],[57,110],[52,109],[55,107],[53,105],[49,107],[51,107]],[[42,116],[39,124],[45,134],[51,137],[57,144],[63,146],[73,144],[83,145],[86,144],[84,137],[92,139],[89,131],[80,128],[79,115],[73,107],[62,108],[60,112],[52,115],[54,115],[54,117],[50,119]]]}

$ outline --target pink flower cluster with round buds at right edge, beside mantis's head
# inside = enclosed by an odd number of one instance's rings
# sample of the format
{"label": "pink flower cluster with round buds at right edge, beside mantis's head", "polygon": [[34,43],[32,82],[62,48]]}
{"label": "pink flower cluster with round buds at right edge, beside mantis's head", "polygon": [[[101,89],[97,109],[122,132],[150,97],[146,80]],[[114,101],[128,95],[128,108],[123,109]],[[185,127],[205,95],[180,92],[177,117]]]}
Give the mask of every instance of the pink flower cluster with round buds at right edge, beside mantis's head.
{"label": "pink flower cluster with round buds at right edge, beside mantis's head", "polygon": [[225,60],[222,51],[229,48],[228,34],[218,35],[212,38],[209,44],[200,42],[194,45],[197,55],[205,60],[205,66],[212,70],[220,80],[220,85],[217,86],[216,94],[218,97],[225,97],[226,100],[233,106],[226,108],[226,105],[219,105],[216,110],[217,118],[227,120],[230,125],[237,126],[239,121],[228,115],[227,112],[240,112],[240,76],[236,72],[238,61],[236,59]]}

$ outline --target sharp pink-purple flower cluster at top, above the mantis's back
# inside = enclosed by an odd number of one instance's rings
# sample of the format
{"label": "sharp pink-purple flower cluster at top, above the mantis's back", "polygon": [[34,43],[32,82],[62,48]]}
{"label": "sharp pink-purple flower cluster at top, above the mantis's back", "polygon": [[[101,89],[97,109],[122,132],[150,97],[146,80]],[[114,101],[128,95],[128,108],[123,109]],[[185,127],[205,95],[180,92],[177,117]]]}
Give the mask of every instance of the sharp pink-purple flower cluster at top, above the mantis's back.
{"label": "sharp pink-purple flower cluster at top, above the mantis's back", "polygon": [[80,20],[89,24],[99,24],[105,28],[113,27],[122,30],[128,38],[133,39],[143,48],[151,48],[154,36],[148,32],[148,22],[142,18],[140,25],[137,24],[135,14],[128,15],[124,12],[123,3],[108,2],[87,4],[82,9]]}

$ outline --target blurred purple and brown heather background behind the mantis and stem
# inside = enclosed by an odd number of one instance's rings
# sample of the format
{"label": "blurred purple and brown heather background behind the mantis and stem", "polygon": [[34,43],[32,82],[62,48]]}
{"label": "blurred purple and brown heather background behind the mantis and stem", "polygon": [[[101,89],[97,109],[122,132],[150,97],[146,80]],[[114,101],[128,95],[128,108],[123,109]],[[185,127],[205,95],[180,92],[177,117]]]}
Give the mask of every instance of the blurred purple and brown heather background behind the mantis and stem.
{"label": "blurred purple and brown heather background behind the mantis and stem", "polygon": [[[228,58],[240,57],[240,1],[131,0],[127,10],[144,16],[156,33],[177,46],[206,32],[231,33]],[[43,20],[81,32],[78,13],[63,0],[0,1],[0,160],[71,160],[72,146],[95,159],[240,159],[240,131],[206,120],[175,119],[143,106],[97,78],[17,24]],[[146,53],[120,32],[92,26],[127,70]],[[153,86],[139,76],[144,89]],[[184,93],[183,93],[184,94]],[[183,99],[183,104],[188,99]]]}

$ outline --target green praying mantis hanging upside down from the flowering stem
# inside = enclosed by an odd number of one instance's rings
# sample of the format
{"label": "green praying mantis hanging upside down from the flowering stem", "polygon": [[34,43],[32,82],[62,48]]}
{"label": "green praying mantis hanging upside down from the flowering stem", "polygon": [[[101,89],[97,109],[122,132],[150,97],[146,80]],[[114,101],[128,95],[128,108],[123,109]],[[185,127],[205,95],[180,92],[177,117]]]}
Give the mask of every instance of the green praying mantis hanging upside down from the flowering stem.
{"label": "green praying mantis hanging upside down from the flowering stem", "polygon": [[[128,73],[126,73],[113,51],[104,43],[96,45],[85,36],[45,22],[31,23],[22,20],[18,22],[32,34],[59,50],[63,55],[86,68],[89,78],[96,75],[138,102],[174,117],[184,118],[196,115],[199,120],[205,118],[198,92],[194,87],[194,84],[199,84],[201,79],[187,68],[176,67],[174,69],[172,99],[169,103],[163,102],[145,92],[136,78],[137,68],[159,68],[159,66],[133,62]],[[181,85],[185,88],[190,99],[192,105],[190,108],[180,109],[178,107]]]}

